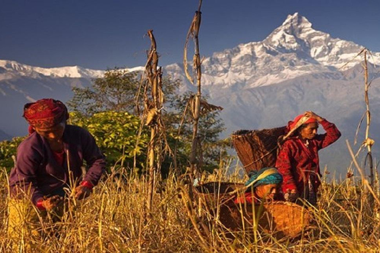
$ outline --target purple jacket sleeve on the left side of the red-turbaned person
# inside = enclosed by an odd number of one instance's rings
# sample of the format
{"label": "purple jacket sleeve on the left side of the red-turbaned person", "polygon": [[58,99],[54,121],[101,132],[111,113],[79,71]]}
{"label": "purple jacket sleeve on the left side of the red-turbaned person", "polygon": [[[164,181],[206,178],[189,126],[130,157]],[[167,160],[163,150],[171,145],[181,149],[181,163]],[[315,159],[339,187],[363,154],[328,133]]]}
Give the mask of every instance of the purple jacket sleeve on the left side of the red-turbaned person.
{"label": "purple jacket sleeve on the left side of the red-turbaned person", "polygon": [[9,175],[9,186],[13,196],[24,192],[31,196],[35,205],[44,196],[37,183],[37,171],[42,160],[43,156],[35,148],[28,145],[19,146],[16,166]]}

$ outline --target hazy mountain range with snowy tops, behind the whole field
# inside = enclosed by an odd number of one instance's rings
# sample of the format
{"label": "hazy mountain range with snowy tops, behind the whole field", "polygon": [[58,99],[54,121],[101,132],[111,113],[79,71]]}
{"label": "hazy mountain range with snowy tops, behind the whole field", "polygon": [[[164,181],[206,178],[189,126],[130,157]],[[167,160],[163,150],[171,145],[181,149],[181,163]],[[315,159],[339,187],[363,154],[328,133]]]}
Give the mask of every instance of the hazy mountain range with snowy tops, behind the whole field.
{"label": "hazy mountain range with snowy tops, behind the whole field", "polygon": [[[343,134],[332,148],[321,151],[321,167],[328,164],[330,169],[343,171],[349,164],[345,139],[352,143],[365,111],[363,58],[352,59],[362,48],[314,30],[305,17],[294,13],[262,42],[239,44],[205,58],[203,93],[209,94],[210,102],[225,108],[221,113],[227,127],[225,135],[238,129],[284,126],[297,114],[315,111],[335,123]],[[380,53],[373,52],[369,61],[379,65]],[[377,140],[380,71],[373,65],[369,71],[370,135]],[[164,72],[184,81],[182,91],[194,88],[185,80],[182,64],[168,65]],[[0,130],[12,136],[26,134],[21,118],[25,103],[43,97],[67,101],[72,86],[91,85],[91,79],[103,73],[77,66],[47,69],[0,60],[0,117],[5,119]],[[376,144],[374,147],[379,157]]]}

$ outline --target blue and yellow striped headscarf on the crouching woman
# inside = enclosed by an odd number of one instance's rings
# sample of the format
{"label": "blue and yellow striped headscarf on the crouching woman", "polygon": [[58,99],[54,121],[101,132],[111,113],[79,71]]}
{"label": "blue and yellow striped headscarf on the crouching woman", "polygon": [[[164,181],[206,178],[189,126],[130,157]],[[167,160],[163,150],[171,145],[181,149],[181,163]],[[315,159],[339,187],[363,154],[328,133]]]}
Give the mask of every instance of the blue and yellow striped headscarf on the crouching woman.
{"label": "blue and yellow striped headscarf on the crouching woman", "polygon": [[265,184],[281,184],[283,176],[274,167],[267,167],[258,171],[249,171],[249,179],[245,182],[245,186],[259,186]]}

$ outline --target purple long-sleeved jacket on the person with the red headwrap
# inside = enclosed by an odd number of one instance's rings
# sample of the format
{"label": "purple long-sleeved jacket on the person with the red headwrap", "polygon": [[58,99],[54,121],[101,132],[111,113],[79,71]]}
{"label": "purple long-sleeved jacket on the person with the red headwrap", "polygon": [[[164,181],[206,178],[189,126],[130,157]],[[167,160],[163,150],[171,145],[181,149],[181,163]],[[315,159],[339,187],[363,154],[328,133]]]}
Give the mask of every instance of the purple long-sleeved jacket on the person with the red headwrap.
{"label": "purple long-sleeved jacket on the person with the red headwrap", "polygon": [[69,169],[74,180],[80,182],[83,160],[88,168],[83,181],[97,184],[105,170],[105,159],[94,137],[82,127],[66,125],[62,138],[65,153],[63,167],[55,161],[47,140],[37,132],[21,142],[17,149],[16,166],[9,175],[12,195],[16,194],[16,186],[23,190],[24,186],[26,189],[30,187],[32,202],[36,205],[44,195],[69,185]]}

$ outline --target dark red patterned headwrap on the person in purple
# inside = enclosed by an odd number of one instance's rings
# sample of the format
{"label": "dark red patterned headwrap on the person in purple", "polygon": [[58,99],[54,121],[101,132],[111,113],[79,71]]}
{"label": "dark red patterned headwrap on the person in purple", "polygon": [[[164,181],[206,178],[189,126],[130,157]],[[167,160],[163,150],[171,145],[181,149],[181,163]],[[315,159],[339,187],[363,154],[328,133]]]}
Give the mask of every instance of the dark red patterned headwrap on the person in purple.
{"label": "dark red patterned headwrap on the person in purple", "polygon": [[51,98],[40,99],[24,106],[23,117],[29,123],[29,135],[34,128],[47,129],[67,120],[69,114],[66,106],[59,100]]}

